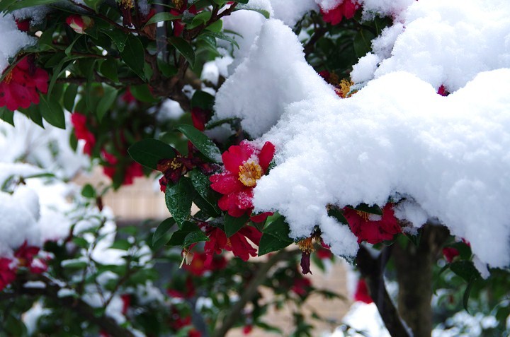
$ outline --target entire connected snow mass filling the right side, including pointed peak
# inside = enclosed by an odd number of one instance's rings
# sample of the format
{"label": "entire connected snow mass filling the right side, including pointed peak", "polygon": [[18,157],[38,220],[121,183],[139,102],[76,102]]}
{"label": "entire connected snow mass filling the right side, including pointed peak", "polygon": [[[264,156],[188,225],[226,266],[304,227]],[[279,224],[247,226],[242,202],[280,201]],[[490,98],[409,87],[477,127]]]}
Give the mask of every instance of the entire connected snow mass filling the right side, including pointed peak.
{"label": "entire connected snow mass filling the right side, including pointed peak", "polygon": [[[263,23],[216,102],[217,118],[240,117],[251,136],[277,146],[256,209],[285,215],[293,237],[319,225],[336,254],[352,256],[356,240],[327,217],[327,204],[407,196],[423,211],[414,207],[414,218],[438,218],[482,262],[509,265],[510,4],[480,6],[415,1],[404,25],[383,33],[378,50],[392,51],[375,80],[346,100],[307,65],[287,26]],[[453,94],[437,95],[441,84]]]}

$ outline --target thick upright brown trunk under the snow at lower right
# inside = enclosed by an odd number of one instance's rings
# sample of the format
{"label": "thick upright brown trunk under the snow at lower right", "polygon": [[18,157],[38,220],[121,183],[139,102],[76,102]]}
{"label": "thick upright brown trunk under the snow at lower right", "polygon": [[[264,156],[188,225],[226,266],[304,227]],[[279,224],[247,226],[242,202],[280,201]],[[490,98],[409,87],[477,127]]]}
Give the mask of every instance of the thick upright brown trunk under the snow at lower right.
{"label": "thick upright brown trunk under the snow at lower right", "polygon": [[408,242],[393,247],[399,285],[398,311],[414,337],[431,336],[432,266],[447,237],[446,227],[425,225],[418,246]]}

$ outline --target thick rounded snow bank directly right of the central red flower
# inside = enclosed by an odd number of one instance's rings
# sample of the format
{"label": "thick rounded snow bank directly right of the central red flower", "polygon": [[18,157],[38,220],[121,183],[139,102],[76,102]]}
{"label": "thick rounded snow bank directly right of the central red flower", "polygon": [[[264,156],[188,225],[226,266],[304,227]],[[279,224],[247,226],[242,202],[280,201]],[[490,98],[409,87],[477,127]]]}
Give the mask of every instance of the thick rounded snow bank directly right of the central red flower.
{"label": "thick rounded snow bank directly right of the central red flower", "polygon": [[509,90],[510,69],[481,73],[448,97],[398,72],[347,100],[296,102],[263,137],[276,143],[278,165],[254,203],[278,209],[300,237],[322,226],[327,203],[382,205],[398,192],[470,241],[482,261],[506,266]]}

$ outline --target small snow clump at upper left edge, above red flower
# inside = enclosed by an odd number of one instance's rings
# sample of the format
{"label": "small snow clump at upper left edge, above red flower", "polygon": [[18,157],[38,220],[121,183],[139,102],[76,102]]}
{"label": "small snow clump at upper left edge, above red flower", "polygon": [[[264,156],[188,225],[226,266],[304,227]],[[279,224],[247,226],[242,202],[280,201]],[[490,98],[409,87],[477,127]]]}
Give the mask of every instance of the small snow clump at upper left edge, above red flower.
{"label": "small snow clump at upper left edge, above red flower", "polygon": [[35,42],[26,32],[18,30],[16,21],[11,14],[0,15],[0,73],[9,65],[8,59],[15,57],[16,53],[26,45]]}

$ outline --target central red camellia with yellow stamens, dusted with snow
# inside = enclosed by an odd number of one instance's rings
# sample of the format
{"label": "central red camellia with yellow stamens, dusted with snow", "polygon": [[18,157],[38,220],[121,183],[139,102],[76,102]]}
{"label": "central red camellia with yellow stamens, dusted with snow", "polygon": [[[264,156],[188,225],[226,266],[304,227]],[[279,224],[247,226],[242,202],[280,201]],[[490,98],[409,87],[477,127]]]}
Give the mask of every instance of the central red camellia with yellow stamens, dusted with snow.
{"label": "central red camellia with yellow stamens, dusted with snow", "polygon": [[[275,147],[272,143],[266,142],[261,150],[257,150],[247,141],[239,146],[230,146],[222,154],[225,171],[212,175],[211,188],[223,194],[218,206],[229,215],[240,217],[244,214],[251,214],[254,209],[253,189],[257,180],[266,174],[269,163],[273,159]],[[258,215],[251,220],[261,222],[267,215]]]}

